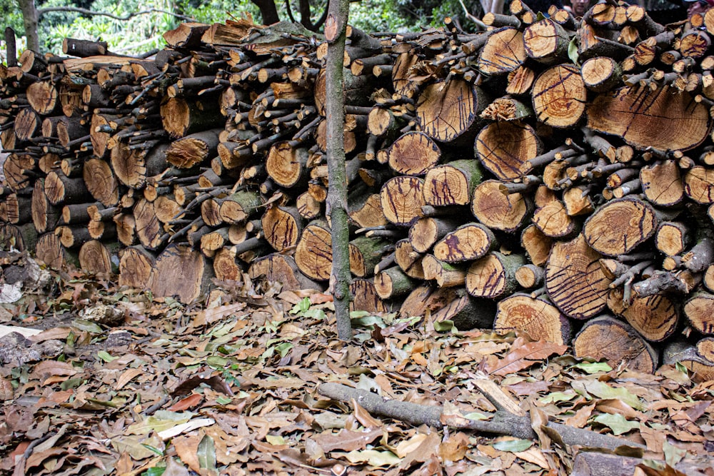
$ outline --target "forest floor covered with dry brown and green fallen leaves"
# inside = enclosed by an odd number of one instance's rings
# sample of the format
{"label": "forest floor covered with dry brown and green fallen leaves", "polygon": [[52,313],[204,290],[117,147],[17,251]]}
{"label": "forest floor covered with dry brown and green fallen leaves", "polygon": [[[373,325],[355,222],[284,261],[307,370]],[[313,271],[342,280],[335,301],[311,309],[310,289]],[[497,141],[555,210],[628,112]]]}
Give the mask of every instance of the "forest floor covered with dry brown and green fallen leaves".
{"label": "forest floor covered with dry brown and green fallen leaves", "polygon": [[[393,314],[356,313],[343,343],[316,291],[223,282],[211,302],[183,305],[41,274],[0,305],[0,474],[714,475],[714,382],[678,365],[633,373],[525,335]],[[448,425],[331,400],[325,383],[440,405]],[[535,437],[466,428],[499,399]],[[568,444],[548,420],[638,447]]]}

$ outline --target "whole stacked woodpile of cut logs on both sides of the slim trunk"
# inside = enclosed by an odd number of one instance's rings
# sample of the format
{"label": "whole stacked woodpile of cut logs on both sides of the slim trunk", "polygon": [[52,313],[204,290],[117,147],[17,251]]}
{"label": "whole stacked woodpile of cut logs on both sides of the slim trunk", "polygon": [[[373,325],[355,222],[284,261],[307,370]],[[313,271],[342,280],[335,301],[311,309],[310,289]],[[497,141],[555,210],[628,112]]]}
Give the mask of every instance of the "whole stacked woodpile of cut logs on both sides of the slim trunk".
{"label": "whole stacked woodpile of cut logs on both sides of the slim trunk", "polygon": [[[713,376],[714,10],[511,12],[478,34],[349,31],[355,308],[578,331],[576,354],[650,372],[653,343],[686,335],[676,358]],[[3,235],[184,302],[243,271],[324,287],[326,44],[248,20],[165,38],[0,70]]]}

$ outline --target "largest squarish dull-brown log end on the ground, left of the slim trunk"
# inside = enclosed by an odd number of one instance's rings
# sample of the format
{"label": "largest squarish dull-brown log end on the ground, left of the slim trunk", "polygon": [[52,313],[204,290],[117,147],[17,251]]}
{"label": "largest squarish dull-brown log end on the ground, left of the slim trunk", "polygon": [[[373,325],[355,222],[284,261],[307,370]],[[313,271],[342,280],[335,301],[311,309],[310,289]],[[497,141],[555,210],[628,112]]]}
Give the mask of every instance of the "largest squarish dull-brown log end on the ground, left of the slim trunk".
{"label": "largest squarish dull-brown log end on the ground, left of the slim trunk", "polygon": [[172,243],[157,256],[149,289],[157,298],[176,296],[190,304],[208,292],[212,277],[213,269],[200,252]]}

